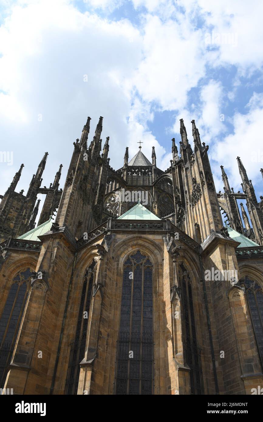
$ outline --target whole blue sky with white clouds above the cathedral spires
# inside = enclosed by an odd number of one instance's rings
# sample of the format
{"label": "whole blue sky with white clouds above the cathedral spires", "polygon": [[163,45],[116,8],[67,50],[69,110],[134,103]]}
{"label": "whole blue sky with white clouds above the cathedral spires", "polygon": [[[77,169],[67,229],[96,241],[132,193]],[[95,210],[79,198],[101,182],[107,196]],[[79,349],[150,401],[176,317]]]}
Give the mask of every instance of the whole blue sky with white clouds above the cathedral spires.
{"label": "whole blue sky with white clouds above the cathedral spires", "polygon": [[[27,190],[49,152],[42,186],[63,164],[61,185],[87,116],[89,140],[103,116],[110,164],[123,165],[142,141],[170,165],[179,119],[209,144],[217,190],[220,165],[242,190],[236,157],[258,200],[263,193],[263,3],[258,0],[1,0],[1,194],[24,163]],[[260,17],[260,19],[259,19]],[[3,161],[3,160],[2,160]],[[42,198],[43,199],[43,198]],[[43,200],[41,201],[43,203]]]}

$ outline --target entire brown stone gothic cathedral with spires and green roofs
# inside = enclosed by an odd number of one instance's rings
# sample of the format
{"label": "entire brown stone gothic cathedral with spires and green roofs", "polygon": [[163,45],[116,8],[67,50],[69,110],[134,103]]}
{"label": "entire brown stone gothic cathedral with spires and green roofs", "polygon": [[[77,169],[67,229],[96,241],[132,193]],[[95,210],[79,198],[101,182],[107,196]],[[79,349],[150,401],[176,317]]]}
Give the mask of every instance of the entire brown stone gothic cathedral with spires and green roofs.
{"label": "entire brown stone gothic cathedral with spires and green roofs", "polygon": [[167,170],[141,143],[114,170],[103,118],[90,145],[89,122],[63,189],[62,165],[41,187],[46,152],[27,194],[15,191],[22,164],[0,196],[0,387],[251,394],[263,385],[263,197],[240,158],[243,192],[221,166],[217,193],[208,146],[193,120],[192,149],[181,119]]}

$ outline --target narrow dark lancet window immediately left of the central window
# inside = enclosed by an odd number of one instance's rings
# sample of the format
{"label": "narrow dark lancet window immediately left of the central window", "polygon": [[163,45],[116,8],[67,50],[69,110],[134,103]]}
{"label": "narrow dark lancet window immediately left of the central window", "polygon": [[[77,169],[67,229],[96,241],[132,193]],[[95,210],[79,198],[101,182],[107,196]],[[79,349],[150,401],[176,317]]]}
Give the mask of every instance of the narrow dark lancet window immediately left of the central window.
{"label": "narrow dark lancet window immediately left of the central window", "polygon": [[92,298],[92,286],[95,280],[97,261],[93,260],[85,271],[81,291],[79,315],[75,339],[70,343],[70,358],[65,384],[65,394],[76,395],[79,384],[80,362],[84,359],[87,338],[89,306]]}

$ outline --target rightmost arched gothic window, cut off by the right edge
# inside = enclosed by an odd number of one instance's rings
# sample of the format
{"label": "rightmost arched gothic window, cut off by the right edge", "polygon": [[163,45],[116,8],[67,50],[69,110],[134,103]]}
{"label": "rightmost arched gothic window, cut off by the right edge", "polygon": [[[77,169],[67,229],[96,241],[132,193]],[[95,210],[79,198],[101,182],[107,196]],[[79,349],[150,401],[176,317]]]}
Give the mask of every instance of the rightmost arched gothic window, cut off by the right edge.
{"label": "rightmost arched gothic window, cut off by the right edge", "polygon": [[239,285],[245,289],[247,294],[258,354],[263,366],[263,289],[257,281],[251,280],[249,276],[244,276],[239,281]]}

